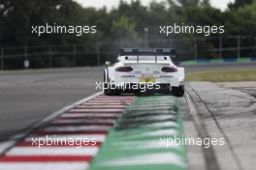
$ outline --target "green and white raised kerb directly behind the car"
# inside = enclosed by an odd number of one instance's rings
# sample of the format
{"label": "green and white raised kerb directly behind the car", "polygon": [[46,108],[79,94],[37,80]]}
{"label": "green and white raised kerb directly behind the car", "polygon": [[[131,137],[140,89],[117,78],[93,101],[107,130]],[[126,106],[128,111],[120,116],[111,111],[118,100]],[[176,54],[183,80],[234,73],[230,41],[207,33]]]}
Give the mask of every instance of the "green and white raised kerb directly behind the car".
{"label": "green and white raised kerb directly behind the car", "polygon": [[163,139],[182,137],[175,97],[138,97],[112,128],[90,170],[185,170],[184,146]]}

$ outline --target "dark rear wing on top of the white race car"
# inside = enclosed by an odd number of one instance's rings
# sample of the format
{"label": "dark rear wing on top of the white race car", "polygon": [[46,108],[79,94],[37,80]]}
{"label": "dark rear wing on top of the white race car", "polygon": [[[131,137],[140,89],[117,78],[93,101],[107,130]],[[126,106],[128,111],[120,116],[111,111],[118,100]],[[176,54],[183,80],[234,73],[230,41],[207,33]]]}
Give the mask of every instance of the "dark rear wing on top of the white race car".
{"label": "dark rear wing on top of the white race car", "polygon": [[174,58],[176,56],[176,49],[174,48],[122,48],[119,56],[129,55],[150,55],[150,56],[170,56]]}

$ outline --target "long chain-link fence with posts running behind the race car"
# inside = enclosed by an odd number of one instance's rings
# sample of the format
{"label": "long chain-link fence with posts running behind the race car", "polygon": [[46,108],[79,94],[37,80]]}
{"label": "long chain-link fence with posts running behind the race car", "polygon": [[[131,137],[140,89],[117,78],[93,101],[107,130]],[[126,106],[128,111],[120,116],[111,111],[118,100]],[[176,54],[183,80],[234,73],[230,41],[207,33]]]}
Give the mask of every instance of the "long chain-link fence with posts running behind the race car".
{"label": "long chain-link fence with posts running behind the race car", "polygon": [[[145,42],[146,41],[146,42]],[[184,38],[141,42],[0,48],[1,70],[100,66],[114,61],[120,47],[174,47],[178,61],[256,57],[256,39],[250,36]]]}

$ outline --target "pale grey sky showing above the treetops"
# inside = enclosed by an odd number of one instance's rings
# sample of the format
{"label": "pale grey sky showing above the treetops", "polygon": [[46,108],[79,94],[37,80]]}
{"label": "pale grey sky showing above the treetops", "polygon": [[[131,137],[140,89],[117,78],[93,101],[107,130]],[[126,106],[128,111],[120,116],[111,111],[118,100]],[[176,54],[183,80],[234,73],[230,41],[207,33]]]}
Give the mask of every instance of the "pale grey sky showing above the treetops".
{"label": "pale grey sky showing above the treetops", "polygon": [[[101,8],[106,6],[108,9],[112,7],[116,7],[119,3],[119,0],[75,0],[79,2],[83,7],[96,7]],[[130,2],[131,0],[125,0]],[[155,0],[162,1],[162,0]],[[150,0],[141,0],[144,5],[147,5]],[[234,0],[210,0],[210,3],[213,7],[219,8],[221,10],[225,10],[227,8],[227,4],[229,2],[234,2]]]}

